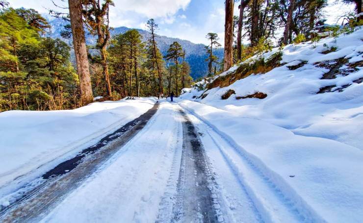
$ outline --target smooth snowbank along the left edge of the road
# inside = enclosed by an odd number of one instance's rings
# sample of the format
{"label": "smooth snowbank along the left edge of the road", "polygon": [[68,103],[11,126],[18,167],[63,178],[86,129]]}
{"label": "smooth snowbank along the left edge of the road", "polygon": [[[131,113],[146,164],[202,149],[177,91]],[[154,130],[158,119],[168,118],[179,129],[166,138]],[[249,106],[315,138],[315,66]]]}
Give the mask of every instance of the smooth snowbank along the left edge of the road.
{"label": "smooth snowbank along the left edge of the road", "polygon": [[[0,114],[0,187],[130,122],[156,99],[95,102],[74,110]],[[84,147],[84,146],[83,146]]]}

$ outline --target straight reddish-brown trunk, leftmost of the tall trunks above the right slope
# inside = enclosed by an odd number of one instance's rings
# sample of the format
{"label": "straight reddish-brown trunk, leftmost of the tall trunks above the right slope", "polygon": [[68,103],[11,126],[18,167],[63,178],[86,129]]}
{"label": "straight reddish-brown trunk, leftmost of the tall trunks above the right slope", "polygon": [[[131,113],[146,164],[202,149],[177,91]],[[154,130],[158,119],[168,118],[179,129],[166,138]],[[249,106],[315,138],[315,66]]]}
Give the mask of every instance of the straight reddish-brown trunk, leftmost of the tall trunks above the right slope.
{"label": "straight reddish-brown trunk, leftmost of the tall trunks above the right slope", "polygon": [[224,71],[233,64],[233,3],[234,0],[226,0],[226,19],[224,25]]}

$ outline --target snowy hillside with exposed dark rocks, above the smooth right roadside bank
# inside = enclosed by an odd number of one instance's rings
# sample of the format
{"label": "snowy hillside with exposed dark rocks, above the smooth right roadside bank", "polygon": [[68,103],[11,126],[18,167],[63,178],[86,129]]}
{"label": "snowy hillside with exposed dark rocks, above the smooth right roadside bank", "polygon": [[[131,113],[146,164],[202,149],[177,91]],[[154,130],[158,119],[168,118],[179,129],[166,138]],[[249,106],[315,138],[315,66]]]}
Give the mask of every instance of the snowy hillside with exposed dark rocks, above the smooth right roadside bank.
{"label": "snowy hillside with exposed dark rocks, above the smooth right roadside bank", "polygon": [[[322,39],[316,48],[311,42],[288,45],[282,50],[283,66],[205,93],[194,88],[180,98],[196,100],[240,117],[261,119],[295,134],[333,139],[363,149],[362,38],[363,29],[359,29],[337,39]],[[336,51],[327,53],[332,48]],[[267,59],[278,51],[276,48],[262,56]],[[234,72],[238,66],[220,76]],[[235,94],[222,100],[221,96],[230,89]],[[267,97],[236,99],[251,97],[257,92]]]}

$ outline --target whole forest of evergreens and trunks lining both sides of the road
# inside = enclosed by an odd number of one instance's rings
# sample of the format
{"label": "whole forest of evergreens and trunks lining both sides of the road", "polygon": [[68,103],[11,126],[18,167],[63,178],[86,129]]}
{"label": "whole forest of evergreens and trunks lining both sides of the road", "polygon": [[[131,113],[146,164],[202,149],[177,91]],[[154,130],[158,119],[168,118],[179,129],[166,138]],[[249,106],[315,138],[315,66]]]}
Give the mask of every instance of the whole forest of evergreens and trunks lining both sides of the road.
{"label": "whole forest of evergreens and trunks lining both sides of the road", "polygon": [[[362,1],[344,2],[355,3],[360,15]],[[239,15],[233,15],[235,4]],[[226,0],[225,56],[213,54],[221,44],[216,33],[207,33],[206,76],[273,47],[318,42],[320,35],[311,33],[316,25],[337,33],[362,24],[359,17],[349,14],[341,17],[343,28],[324,25],[326,5],[326,0]],[[154,19],[147,21],[146,42],[136,29],[111,36],[110,7],[118,6],[112,0],[70,0],[69,13],[50,10],[52,16],[71,22],[62,31],[63,37],[73,38],[73,46],[68,46],[47,37],[51,27],[36,10],[14,9],[0,0],[0,112],[73,109],[94,97],[118,100],[171,92],[178,96],[182,88],[193,84],[181,45],[174,42],[166,55],[158,49]],[[85,29],[97,37],[96,45],[86,46]],[[72,63],[71,50],[76,63]]]}

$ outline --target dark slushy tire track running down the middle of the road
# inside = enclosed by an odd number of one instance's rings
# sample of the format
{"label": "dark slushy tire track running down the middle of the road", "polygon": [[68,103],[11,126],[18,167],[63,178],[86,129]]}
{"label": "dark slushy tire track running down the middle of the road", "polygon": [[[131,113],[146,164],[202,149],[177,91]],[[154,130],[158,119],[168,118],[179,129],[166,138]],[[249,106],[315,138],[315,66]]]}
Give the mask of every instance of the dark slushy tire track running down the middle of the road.
{"label": "dark slushy tire track running down the middle of the road", "polygon": [[179,113],[183,117],[183,148],[171,222],[224,222],[208,157],[194,125],[183,110]]}

